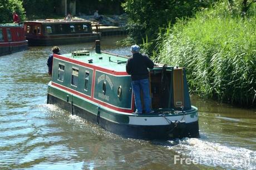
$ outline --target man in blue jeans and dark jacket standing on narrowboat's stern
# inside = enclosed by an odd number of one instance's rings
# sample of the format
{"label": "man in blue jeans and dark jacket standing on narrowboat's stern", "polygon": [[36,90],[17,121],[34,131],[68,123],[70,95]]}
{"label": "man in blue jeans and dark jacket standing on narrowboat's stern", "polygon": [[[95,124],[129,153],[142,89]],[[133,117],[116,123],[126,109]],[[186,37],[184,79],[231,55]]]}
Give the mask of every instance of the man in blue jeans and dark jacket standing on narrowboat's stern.
{"label": "man in blue jeans and dark jacket standing on narrowboat's stern", "polygon": [[154,62],[145,55],[141,54],[140,47],[137,45],[131,46],[132,56],[126,62],[126,72],[131,75],[132,91],[134,92],[135,106],[137,114],[142,113],[142,104],[140,92],[142,90],[143,101],[146,113],[154,113],[151,111],[151,97],[149,91],[149,71],[147,68],[154,68]]}

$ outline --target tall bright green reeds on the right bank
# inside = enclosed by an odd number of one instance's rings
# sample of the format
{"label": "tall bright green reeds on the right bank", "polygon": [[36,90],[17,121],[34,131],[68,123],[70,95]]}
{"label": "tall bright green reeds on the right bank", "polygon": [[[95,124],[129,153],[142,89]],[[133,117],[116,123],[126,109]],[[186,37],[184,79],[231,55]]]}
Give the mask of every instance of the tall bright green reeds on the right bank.
{"label": "tall bright green reeds on the right bank", "polygon": [[161,63],[186,67],[190,90],[204,97],[254,106],[256,17],[209,10],[180,20],[159,36]]}

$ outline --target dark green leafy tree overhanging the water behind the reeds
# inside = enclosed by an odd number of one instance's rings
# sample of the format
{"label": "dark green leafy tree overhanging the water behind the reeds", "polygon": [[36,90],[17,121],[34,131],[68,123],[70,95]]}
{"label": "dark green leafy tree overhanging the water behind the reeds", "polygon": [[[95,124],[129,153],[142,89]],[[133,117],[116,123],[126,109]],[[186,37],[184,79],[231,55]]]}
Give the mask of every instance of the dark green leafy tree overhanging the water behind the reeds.
{"label": "dark green leafy tree overhanging the water behind the reeds", "polygon": [[134,38],[137,44],[141,44],[146,36],[149,41],[155,39],[159,27],[165,27],[169,21],[175,23],[176,18],[192,16],[196,11],[213,2],[213,0],[126,0],[122,7],[129,14],[129,36]]}

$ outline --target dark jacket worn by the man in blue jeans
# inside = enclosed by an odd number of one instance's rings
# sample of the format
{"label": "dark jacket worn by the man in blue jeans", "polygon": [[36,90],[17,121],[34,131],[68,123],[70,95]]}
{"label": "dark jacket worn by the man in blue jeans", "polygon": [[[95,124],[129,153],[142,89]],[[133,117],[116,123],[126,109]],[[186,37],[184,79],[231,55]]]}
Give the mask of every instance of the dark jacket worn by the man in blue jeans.
{"label": "dark jacket worn by the man in blue jeans", "polygon": [[132,81],[149,78],[147,68],[154,68],[154,62],[145,54],[134,53],[126,62],[126,72],[131,75]]}

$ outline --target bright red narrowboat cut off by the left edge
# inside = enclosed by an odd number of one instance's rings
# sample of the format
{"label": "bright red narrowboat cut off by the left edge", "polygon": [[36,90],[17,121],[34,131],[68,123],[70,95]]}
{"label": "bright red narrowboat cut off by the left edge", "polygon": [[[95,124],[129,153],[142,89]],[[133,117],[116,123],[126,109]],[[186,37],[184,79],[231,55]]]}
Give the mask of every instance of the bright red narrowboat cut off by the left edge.
{"label": "bright red narrowboat cut off by the left edge", "polygon": [[18,24],[0,24],[0,56],[27,49],[24,27]]}

